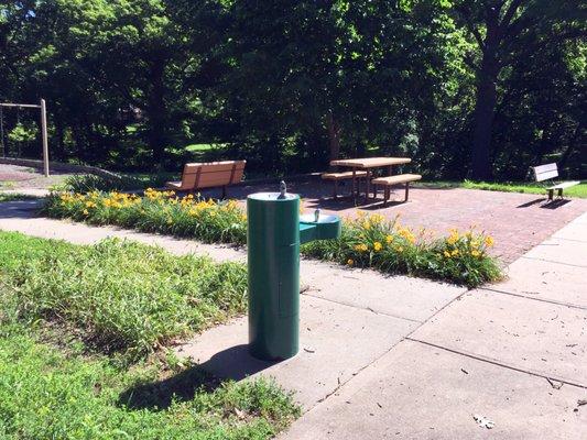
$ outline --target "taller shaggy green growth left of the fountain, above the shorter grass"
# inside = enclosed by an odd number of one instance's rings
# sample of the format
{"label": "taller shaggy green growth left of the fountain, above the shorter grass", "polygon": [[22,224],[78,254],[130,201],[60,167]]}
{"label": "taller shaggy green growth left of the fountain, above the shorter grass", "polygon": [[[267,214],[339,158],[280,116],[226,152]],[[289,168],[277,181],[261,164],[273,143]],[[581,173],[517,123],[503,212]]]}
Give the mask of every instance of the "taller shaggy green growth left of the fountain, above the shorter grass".
{"label": "taller shaggy green growth left of the fountain, above the shorter grass", "polygon": [[0,280],[14,292],[0,300],[23,320],[65,324],[130,360],[247,307],[243,264],[112,239],[83,246],[0,232]]}

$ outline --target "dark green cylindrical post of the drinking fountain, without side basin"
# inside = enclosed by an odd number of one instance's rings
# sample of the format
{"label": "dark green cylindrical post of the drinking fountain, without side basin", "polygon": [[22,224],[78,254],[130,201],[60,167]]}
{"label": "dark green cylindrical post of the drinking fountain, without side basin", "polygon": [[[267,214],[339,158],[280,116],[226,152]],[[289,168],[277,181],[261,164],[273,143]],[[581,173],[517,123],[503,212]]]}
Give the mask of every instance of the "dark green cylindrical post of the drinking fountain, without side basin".
{"label": "dark green cylindrical post of the drinking fountain, without side basin", "polygon": [[292,358],[300,331],[300,197],[247,198],[249,351],[262,360]]}

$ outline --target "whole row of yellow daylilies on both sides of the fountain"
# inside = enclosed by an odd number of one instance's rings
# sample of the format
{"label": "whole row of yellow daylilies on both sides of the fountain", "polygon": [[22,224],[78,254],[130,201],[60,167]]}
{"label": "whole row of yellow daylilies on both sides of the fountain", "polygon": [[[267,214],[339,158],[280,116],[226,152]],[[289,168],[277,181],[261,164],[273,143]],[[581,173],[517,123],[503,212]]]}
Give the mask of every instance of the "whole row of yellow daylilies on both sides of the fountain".
{"label": "whole row of yellow daylilies on both sides of the fountain", "polygon": [[[205,242],[244,244],[247,217],[235,200],[216,202],[192,195],[148,189],[143,197],[120,193],[53,195],[44,212],[94,224],[118,224],[146,232],[189,237]],[[474,229],[434,238],[403,227],[398,219],[361,215],[347,220],[339,240],[302,246],[306,256],[389,274],[407,274],[478,286],[499,279],[501,270],[488,250],[491,237]]]}

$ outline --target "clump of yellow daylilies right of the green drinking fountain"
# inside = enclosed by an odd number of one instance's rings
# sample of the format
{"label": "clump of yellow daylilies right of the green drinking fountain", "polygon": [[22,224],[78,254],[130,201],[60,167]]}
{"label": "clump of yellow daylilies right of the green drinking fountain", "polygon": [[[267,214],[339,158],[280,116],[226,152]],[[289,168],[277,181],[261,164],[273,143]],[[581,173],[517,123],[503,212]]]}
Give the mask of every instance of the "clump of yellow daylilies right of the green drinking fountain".
{"label": "clump of yellow daylilies right of the green drinking fountain", "polygon": [[501,270],[488,254],[493,239],[474,230],[434,239],[424,229],[414,232],[398,218],[361,215],[347,221],[339,240],[304,244],[303,253],[390,274],[409,274],[478,286],[499,279]]}

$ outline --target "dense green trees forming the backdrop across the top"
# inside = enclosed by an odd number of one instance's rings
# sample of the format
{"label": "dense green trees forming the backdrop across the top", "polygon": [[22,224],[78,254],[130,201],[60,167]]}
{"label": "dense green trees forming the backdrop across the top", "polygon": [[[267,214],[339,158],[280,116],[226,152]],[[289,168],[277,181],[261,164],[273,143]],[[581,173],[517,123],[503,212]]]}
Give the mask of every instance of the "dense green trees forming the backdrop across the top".
{"label": "dense green trees forming the backdrop across the top", "polygon": [[[48,101],[55,157],[177,172],[414,157],[434,177],[581,173],[578,0],[0,0],[0,100]],[[37,116],[4,111],[11,152]],[[187,148],[210,144],[209,148]]]}

